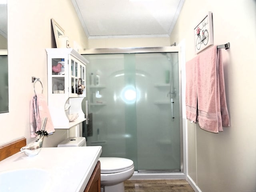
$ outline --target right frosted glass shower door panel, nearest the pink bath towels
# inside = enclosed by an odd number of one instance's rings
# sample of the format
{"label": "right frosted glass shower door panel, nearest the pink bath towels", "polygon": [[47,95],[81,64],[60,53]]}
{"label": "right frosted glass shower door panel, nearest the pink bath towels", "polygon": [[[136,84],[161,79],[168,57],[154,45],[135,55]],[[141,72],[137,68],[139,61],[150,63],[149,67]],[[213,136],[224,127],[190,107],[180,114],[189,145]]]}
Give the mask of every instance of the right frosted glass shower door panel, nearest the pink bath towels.
{"label": "right frosted glass shower door panel, nearest the pink bath towels", "polygon": [[180,171],[178,53],[136,54],[138,170]]}

